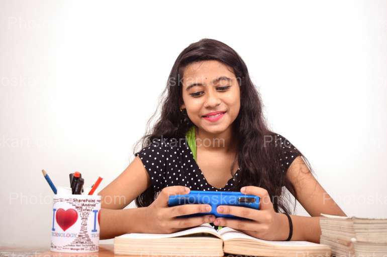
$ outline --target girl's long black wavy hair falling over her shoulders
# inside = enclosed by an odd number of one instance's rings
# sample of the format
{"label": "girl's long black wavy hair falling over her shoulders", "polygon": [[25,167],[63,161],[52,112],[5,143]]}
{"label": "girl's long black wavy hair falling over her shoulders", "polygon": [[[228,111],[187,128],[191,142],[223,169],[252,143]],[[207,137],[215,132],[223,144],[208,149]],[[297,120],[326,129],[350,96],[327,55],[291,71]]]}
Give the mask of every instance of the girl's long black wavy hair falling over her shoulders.
{"label": "girl's long black wavy hair falling over her shoulders", "polygon": [[[179,54],[161,94],[157,108],[158,110],[161,105],[161,115],[153,128],[149,129],[149,124],[157,113],[157,110],[155,111],[147,122],[145,135],[136,143],[136,146],[142,142],[141,148],[148,147],[154,139],[161,136],[183,138],[188,129],[194,125],[186,112],[180,111],[180,106],[183,104],[181,79],[184,68],[188,64],[206,60],[217,60],[231,67],[240,86],[240,111],[233,123],[233,133],[238,139],[236,158],[238,158],[240,171],[239,175],[234,177],[236,181],[231,190],[240,191],[240,188],[246,185],[265,188],[270,195],[274,210],[290,214],[289,195],[285,194],[283,186],[295,196],[295,208],[297,194],[280,167],[278,156],[282,145],[275,140],[277,134],[266,126],[261,97],[250,80],[246,64],[237,52],[220,41],[202,39],[190,44]],[[136,152],[135,149],[133,153]],[[307,162],[309,165],[309,161]],[[230,167],[231,175],[233,175],[232,167],[234,164]],[[148,206],[154,200],[154,193],[153,186],[148,187],[136,197],[136,205]]]}

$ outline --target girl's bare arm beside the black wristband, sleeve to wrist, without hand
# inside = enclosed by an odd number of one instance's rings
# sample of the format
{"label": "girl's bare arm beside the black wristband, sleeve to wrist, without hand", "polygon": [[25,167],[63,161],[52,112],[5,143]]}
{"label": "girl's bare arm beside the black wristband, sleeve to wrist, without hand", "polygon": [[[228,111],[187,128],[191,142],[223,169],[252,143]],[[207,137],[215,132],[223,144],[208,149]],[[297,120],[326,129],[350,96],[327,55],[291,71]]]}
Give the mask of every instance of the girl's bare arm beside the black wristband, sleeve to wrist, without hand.
{"label": "girl's bare arm beside the black wristband, sleeve to wrist, without hand", "polygon": [[[291,215],[293,222],[292,240],[307,240],[320,242],[320,217],[321,213],[346,216],[344,211],[330,197],[319,184],[305,164],[301,156],[298,156],[289,166],[286,177],[291,181],[297,193],[297,200],[303,205],[312,217]],[[288,228],[286,215],[281,214],[282,224]],[[286,238],[288,230],[284,231]]]}

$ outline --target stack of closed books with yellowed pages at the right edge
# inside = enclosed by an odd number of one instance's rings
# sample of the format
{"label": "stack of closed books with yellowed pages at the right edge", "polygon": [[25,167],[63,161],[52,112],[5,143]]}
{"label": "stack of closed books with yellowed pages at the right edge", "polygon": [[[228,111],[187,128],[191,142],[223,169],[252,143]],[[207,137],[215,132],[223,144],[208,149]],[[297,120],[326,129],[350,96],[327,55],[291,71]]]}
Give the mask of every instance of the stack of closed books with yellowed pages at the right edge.
{"label": "stack of closed books with yellowed pages at the right edge", "polygon": [[320,243],[336,257],[387,256],[387,219],[321,214]]}

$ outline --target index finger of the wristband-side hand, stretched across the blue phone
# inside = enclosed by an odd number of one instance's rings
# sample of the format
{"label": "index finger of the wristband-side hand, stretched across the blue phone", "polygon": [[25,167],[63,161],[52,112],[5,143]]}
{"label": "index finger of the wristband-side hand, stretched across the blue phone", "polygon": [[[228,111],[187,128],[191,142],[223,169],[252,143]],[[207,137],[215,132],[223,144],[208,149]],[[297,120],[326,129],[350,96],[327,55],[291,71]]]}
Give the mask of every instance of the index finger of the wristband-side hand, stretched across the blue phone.
{"label": "index finger of the wristband-side hand, stretched across the blue phone", "polygon": [[231,214],[238,217],[249,218],[258,222],[271,221],[271,215],[268,211],[256,210],[243,206],[219,205],[216,211],[221,214]]}

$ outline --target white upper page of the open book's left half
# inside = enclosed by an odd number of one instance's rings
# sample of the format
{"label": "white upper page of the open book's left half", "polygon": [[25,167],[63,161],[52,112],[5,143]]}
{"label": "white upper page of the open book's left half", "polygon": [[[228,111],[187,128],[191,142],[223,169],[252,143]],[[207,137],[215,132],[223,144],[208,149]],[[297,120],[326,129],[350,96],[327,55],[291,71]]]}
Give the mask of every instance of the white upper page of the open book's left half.
{"label": "white upper page of the open book's left half", "polygon": [[170,234],[128,233],[128,234],[123,234],[116,237],[131,238],[131,239],[156,239],[156,238],[177,237],[182,235],[199,234],[199,233],[209,233],[222,239],[222,237],[218,234],[215,228],[213,228],[209,223],[203,223],[200,226],[188,228],[188,229],[170,233]]}

